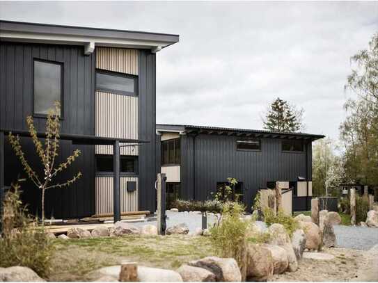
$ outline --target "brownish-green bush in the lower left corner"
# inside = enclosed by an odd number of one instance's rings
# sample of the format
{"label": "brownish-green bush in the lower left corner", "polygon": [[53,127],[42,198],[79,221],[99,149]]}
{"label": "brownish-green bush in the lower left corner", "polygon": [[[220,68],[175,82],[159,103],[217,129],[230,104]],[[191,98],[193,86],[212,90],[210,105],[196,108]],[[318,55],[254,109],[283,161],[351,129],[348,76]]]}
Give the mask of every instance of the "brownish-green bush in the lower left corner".
{"label": "brownish-green bush in the lower left corner", "polygon": [[19,186],[15,185],[3,202],[0,266],[26,266],[45,277],[50,270],[52,243],[44,229],[26,215],[19,194]]}

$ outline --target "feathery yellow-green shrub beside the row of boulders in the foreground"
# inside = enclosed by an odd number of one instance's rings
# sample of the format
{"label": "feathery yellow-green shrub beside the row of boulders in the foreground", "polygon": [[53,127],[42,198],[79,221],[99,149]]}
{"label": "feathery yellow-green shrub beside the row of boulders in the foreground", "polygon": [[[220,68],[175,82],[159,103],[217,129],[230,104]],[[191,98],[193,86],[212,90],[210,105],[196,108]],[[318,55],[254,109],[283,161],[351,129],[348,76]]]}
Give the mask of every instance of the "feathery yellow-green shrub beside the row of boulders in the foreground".
{"label": "feathery yellow-green shrub beside the row of boulders in the foreground", "polygon": [[210,229],[210,238],[219,257],[233,257],[245,277],[246,245],[251,222],[243,220],[243,214],[242,204],[226,202],[220,223]]}

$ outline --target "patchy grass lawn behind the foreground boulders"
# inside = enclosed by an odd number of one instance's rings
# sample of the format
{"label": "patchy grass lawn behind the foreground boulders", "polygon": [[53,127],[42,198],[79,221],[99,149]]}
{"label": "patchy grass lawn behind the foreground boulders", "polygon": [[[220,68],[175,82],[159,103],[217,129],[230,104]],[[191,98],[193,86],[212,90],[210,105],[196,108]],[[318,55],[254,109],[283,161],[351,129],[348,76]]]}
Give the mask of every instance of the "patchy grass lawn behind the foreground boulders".
{"label": "patchy grass lawn behind the foreground boulders", "polygon": [[184,262],[214,255],[203,236],[123,236],[54,240],[49,281],[88,281],[90,271],[136,261],[144,266],[176,269]]}

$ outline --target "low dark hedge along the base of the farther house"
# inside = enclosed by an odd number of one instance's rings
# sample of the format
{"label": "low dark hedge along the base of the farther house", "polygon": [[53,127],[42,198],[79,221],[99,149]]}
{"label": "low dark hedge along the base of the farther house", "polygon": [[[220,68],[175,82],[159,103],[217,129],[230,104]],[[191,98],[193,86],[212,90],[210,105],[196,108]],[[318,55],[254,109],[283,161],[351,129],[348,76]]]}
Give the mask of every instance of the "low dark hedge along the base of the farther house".
{"label": "low dark hedge along the base of the farther house", "polygon": [[197,200],[175,200],[169,208],[176,208],[178,211],[209,211],[221,213],[223,205],[217,200],[206,200],[205,202]]}

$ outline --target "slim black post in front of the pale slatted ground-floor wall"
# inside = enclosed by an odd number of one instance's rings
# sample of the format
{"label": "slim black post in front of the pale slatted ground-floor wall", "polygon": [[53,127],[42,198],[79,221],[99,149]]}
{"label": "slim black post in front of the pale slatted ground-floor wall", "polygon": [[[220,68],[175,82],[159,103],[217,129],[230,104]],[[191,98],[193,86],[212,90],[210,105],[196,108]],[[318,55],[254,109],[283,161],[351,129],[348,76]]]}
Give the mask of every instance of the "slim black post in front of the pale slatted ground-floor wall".
{"label": "slim black post in front of the pale slatted ground-floor wall", "polygon": [[113,219],[120,221],[120,141],[113,145]]}

